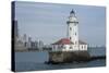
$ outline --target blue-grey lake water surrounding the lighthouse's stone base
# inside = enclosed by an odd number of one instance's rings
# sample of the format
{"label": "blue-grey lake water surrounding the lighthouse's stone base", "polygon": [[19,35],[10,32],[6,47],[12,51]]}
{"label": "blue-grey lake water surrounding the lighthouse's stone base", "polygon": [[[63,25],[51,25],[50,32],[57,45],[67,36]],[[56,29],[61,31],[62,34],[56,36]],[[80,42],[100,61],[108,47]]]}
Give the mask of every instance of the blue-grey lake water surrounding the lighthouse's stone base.
{"label": "blue-grey lake water surrounding the lighthouse's stone base", "polygon": [[[94,51],[95,50],[95,51]],[[90,56],[105,56],[105,49],[88,50]],[[48,52],[15,52],[15,71],[39,71],[39,70],[57,70],[57,69],[75,69],[75,68],[92,68],[105,66],[106,60],[99,59],[89,62],[81,63],[64,63],[64,64],[45,64],[48,61]]]}

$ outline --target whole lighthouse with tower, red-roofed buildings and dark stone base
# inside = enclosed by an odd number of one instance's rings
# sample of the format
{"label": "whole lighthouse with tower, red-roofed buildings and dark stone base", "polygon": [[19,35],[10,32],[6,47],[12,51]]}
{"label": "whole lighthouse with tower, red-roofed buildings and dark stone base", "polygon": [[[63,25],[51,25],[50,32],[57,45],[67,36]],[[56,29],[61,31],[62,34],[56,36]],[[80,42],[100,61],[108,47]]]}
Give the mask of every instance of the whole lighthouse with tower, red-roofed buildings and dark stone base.
{"label": "whole lighthouse with tower, red-roofed buildings and dark stone base", "polygon": [[66,37],[51,44],[49,62],[64,63],[89,60],[87,44],[78,38],[78,20],[74,10],[70,12],[66,26]]}

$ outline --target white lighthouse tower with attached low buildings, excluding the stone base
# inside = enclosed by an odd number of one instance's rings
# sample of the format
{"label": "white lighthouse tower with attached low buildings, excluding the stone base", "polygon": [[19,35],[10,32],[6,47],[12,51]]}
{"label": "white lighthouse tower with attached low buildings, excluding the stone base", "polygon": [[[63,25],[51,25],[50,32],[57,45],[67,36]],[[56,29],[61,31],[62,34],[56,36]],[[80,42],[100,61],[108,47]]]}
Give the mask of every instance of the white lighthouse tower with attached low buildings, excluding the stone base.
{"label": "white lighthouse tower with attached low buildings, excluding the stone base", "polygon": [[78,39],[78,21],[75,12],[70,12],[68,24],[68,37],[52,44],[52,51],[87,51],[87,44]]}

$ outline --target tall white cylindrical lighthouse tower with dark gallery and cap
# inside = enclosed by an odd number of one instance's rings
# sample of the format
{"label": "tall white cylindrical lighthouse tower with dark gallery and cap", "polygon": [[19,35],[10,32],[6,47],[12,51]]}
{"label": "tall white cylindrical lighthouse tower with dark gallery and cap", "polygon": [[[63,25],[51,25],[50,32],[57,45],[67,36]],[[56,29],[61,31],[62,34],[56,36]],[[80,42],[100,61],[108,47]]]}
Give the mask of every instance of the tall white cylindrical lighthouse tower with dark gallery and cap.
{"label": "tall white cylindrical lighthouse tower with dark gallery and cap", "polygon": [[75,50],[78,50],[78,21],[75,12],[70,12],[68,24],[68,38],[73,42]]}

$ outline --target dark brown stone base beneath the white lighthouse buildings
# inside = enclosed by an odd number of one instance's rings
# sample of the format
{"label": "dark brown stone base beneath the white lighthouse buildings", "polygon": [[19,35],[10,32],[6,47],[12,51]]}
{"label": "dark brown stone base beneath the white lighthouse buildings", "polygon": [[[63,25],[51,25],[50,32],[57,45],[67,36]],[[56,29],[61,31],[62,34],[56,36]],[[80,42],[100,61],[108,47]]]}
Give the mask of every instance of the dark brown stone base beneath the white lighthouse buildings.
{"label": "dark brown stone base beneath the white lighthouse buildings", "polygon": [[87,51],[53,51],[49,52],[49,63],[69,63],[88,61],[90,56]]}

